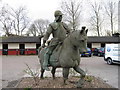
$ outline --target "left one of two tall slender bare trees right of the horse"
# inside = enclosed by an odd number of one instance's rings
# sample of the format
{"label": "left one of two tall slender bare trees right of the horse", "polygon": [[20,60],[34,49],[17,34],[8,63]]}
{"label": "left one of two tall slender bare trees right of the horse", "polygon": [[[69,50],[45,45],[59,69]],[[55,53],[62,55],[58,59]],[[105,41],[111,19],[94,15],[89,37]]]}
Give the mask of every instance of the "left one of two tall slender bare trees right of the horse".
{"label": "left one of two tall slender bare trees right of the horse", "polygon": [[91,16],[91,26],[95,28],[95,30],[97,31],[98,36],[100,36],[100,28],[101,28],[101,24],[103,23],[103,20],[101,18],[101,5],[98,3],[91,3],[91,7],[92,7],[92,16]]}

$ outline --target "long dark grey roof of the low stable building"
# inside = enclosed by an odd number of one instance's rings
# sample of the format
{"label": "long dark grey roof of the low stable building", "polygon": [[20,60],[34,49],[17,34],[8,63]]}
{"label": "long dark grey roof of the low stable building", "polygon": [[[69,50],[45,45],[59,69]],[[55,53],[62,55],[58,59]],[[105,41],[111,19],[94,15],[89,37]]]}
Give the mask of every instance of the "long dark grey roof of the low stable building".
{"label": "long dark grey roof of the low stable building", "polygon": [[[41,37],[28,37],[28,36],[10,36],[10,37],[2,37],[2,43],[40,43]],[[120,43],[120,37],[97,37],[97,36],[89,36],[88,43]]]}

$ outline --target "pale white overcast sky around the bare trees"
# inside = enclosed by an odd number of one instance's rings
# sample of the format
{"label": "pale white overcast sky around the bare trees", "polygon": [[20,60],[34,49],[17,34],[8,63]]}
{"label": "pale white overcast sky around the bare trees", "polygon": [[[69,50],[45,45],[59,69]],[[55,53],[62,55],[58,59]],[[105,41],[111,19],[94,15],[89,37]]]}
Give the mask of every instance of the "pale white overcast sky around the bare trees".
{"label": "pale white overcast sky around the bare trees", "polygon": [[[2,2],[1,2],[2,1]],[[24,6],[28,10],[28,17],[31,20],[35,19],[48,19],[54,21],[54,11],[60,9],[61,1],[64,0],[0,0],[0,6],[8,4],[10,7],[18,8]],[[90,16],[88,1],[94,2],[95,0],[83,0],[83,25],[87,25],[87,18]],[[96,2],[107,2],[108,0],[96,0]],[[119,0],[112,0],[118,2]],[[87,12],[86,12],[87,11]]]}

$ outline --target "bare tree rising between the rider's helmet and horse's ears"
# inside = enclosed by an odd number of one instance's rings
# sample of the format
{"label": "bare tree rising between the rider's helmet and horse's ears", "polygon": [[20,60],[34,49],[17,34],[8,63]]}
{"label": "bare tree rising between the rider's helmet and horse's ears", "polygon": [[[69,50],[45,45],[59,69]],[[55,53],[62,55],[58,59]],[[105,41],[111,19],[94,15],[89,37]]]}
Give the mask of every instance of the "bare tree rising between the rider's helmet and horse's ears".
{"label": "bare tree rising between the rider's helmet and horse's ears", "polygon": [[82,11],[82,2],[75,0],[66,0],[61,4],[61,9],[65,14],[64,20],[69,23],[71,28],[77,30],[80,26],[80,15]]}

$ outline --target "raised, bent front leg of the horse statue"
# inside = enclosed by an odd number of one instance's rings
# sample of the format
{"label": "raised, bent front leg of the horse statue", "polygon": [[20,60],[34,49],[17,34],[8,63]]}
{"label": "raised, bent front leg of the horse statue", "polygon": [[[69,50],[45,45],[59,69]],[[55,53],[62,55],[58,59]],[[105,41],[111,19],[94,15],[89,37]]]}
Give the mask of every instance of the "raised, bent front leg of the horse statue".
{"label": "raised, bent front leg of the horse statue", "polygon": [[80,73],[81,74],[81,78],[80,80],[78,81],[78,84],[77,84],[77,87],[78,88],[82,88],[82,85],[84,83],[84,78],[85,78],[85,75],[86,73],[80,68],[80,67],[74,67],[73,68],[76,72]]}

